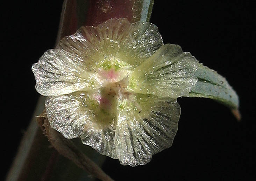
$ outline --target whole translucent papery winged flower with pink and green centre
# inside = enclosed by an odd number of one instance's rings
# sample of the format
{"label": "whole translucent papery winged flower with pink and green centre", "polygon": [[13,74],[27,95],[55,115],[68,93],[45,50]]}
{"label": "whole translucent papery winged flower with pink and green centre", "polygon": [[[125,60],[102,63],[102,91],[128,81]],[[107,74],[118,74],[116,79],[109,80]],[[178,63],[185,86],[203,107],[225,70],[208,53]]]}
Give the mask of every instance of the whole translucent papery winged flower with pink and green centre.
{"label": "whole translucent papery winged flower with pink and green centre", "polygon": [[172,145],[177,97],[197,82],[198,61],[163,44],[151,23],[109,19],[81,27],[32,66],[50,126],[122,165],[147,164]]}

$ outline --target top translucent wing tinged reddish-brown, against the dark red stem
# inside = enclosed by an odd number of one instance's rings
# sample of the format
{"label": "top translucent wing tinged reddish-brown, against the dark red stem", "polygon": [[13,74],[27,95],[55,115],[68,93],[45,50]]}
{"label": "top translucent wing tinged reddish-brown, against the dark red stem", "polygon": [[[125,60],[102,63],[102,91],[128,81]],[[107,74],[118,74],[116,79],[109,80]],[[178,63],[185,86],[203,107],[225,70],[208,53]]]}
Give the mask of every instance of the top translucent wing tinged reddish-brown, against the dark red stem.
{"label": "top translucent wing tinged reddish-brown, against the dark red stem", "polygon": [[95,67],[118,67],[117,60],[137,66],[162,45],[162,37],[154,24],[131,24],[126,18],[119,18],[109,19],[97,27],[81,27],[74,35],[63,38],[57,48],[75,52],[84,60],[85,69],[91,71]]}

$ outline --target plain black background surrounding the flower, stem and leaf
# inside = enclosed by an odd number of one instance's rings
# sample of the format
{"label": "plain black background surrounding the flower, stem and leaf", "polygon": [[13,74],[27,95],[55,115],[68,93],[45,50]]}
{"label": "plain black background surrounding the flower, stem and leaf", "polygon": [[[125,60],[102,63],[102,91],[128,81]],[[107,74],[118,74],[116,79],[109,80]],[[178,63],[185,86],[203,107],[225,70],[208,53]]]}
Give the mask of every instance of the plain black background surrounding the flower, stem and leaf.
{"label": "plain black background surrounding the flower, stem and leaf", "polygon": [[[171,2],[168,4],[168,2]],[[39,94],[31,65],[55,45],[62,0],[2,5],[1,163],[12,163]],[[107,158],[115,180],[253,180],[255,178],[255,7],[248,2],[157,1],[151,21],[164,43],[178,44],[226,77],[240,97],[241,122],[212,100],[179,98],[171,148],[145,166]]]}

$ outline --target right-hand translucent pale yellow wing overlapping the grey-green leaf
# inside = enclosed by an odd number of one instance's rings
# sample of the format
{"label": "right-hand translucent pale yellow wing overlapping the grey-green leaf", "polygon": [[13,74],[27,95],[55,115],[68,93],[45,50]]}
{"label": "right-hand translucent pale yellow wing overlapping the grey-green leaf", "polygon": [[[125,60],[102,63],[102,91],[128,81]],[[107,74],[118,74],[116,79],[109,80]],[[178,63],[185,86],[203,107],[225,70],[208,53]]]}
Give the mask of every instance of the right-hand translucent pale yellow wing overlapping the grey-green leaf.
{"label": "right-hand translucent pale yellow wing overlapping the grey-green leaf", "polygon": [[197,82],[194,72],[198,64],[190,53],[183,53],[180,46],[166,44],[134,69],[128,89],[161,97],[186,96]]}

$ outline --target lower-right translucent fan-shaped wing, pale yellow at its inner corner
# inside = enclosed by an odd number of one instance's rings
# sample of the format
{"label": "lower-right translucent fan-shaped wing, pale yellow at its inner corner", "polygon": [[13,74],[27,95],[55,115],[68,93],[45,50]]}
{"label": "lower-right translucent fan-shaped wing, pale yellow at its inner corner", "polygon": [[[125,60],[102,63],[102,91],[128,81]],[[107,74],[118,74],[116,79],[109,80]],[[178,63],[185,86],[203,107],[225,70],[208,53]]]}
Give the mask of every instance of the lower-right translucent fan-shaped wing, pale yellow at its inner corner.
{"label": "lower-right translucent fan-shaped wing, pale yellow at its inner corner", "polygon": [[115,151],[122,165],[145,165],[172,145],[180,107],[176,99],[133,94],[118,105]]}

